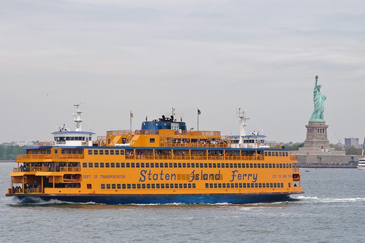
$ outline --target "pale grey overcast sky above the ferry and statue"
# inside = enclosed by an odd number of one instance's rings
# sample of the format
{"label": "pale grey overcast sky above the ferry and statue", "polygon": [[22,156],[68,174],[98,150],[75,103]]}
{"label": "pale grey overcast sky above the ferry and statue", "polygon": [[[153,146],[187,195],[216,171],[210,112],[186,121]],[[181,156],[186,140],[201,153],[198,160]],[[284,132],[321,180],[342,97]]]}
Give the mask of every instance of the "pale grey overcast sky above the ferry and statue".
{"label": "pale grey overcast sky above the ferry and statue", "polygon": [[247,132],[302,142],[315,74],[330,142],[362,143],[364,23],[363,1],[2,1],[0,143],[74,130],[80,102],[97,136],[172,107],[238,135],[242,107]]}

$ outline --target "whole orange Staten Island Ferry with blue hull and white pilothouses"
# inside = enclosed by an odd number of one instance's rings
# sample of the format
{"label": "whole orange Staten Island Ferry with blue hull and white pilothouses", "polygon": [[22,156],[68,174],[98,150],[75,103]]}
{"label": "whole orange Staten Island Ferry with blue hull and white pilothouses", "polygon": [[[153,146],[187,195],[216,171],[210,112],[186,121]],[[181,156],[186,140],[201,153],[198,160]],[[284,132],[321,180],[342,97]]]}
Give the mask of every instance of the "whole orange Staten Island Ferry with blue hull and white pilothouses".
{"label": "whole orange Staten Island Ferry with blue hull and white pilothouses", "polygon": [[77,105],[76,131],[61,128],[54,142],[18,155],[7,196],[21,203],[244,204],[304,193],[296,157],[278,144],[263,146],[265,136],[245,136],[241,109],[238,143],[221,132],[187,130],[173,116],[146,119],[141,130],[108,131],[93,142],[94,133],[81,131],[82,112]]}

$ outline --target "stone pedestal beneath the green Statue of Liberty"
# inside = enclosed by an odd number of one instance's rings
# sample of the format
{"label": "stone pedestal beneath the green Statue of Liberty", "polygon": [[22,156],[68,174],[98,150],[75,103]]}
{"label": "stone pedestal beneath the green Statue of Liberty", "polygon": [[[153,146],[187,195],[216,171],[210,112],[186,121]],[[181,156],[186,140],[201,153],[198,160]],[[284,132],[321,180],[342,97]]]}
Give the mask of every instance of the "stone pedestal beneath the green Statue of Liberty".
{"label": "stone pedestal beneath the green Statue of Liberty", "polygon": [[327,139],[328,127],[325,121],[308,121],[304,148],[330,148],[330,141]]}

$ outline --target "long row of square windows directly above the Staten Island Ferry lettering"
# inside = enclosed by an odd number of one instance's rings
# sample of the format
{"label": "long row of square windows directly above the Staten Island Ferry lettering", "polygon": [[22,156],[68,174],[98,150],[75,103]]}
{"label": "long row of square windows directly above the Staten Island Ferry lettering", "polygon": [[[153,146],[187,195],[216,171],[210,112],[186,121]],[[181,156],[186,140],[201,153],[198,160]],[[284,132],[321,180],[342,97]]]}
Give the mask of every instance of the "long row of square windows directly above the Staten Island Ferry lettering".
{"label": "long row of square windows directly above the Staten Island Ferry lettering", "polygon": [[[291,168],[271,163],[83,163],[83,168]],[[294,165],[293,165],[294,167]]]}

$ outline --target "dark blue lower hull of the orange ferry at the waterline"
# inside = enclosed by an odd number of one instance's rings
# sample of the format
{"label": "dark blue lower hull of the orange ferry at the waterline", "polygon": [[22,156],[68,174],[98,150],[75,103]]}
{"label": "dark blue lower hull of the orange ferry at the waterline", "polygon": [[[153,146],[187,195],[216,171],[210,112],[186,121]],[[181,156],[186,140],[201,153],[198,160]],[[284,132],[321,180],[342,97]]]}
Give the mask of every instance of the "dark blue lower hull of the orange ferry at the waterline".
{"label": "dark blue lower hull of the orange ferry at the waterline", "polygon": [[[302,193],[302,192],[301,192]],[[272,201],[283,201],[289,198],[287,193],[278,194],[160,194],[160,195],[141,195],[141,194],[85,194],[85,195],[15,195],[22,204],[39,203],[41,200],[59,200],[70,203],[96,203],[107,205],[123,204],[249,204],[264,203]],[[41,200],[40,200],[41,199]]]}

